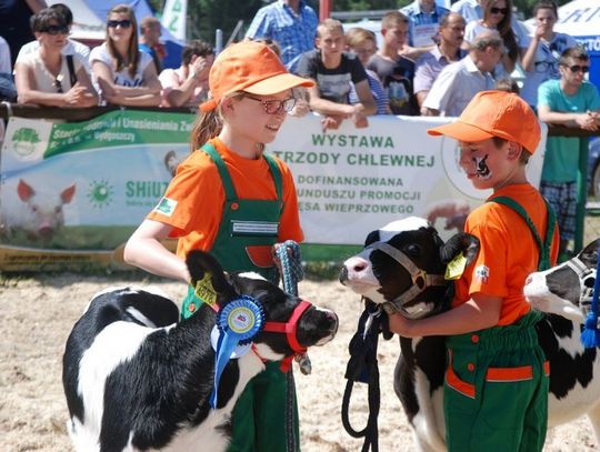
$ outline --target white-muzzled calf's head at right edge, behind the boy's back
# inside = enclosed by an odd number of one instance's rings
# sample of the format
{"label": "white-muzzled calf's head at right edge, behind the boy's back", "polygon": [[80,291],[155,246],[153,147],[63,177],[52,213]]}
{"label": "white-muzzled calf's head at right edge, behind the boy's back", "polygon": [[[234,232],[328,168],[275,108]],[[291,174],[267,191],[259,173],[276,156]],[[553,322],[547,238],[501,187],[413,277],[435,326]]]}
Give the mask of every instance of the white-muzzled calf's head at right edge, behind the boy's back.
{"label": "white-muzzled calf's head at right edge, behind the boy's back", "polygon": [[569,261],[531,273],[523,288],[527,301],[539,311],[583,323],[596,282],[599,245],[597,239]]}

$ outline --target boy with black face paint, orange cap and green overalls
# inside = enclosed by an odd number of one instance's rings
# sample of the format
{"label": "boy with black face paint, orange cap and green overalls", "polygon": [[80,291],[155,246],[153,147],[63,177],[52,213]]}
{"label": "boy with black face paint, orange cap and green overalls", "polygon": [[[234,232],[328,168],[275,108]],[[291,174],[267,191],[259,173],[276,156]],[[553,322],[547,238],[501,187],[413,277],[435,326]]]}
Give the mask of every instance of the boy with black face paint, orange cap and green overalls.
{"label": "boy with black face paint, orange cap and green overalls", "polygon": [[482,91],[457,122],[428,132],[458,140],[467,177],[493,194],[467,219],[464,231],[479,239],[480,251],[456,283],[452,309],[413,321],[390,315],[390,330],[448,335],[450,452],[541,451],[548,369],[534,329],[539,314],[522,291],[529,273],[556,262],[559,243],[552,214],[526,175],[540,125],[517,94]]}

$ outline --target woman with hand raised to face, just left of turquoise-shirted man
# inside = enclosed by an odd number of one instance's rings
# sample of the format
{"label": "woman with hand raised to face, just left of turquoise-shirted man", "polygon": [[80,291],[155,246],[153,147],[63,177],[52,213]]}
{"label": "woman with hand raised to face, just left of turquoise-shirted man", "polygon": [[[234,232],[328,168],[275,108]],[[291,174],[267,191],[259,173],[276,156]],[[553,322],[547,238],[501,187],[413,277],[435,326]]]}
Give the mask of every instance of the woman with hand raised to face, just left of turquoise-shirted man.
{"label": "woman with hand raised to face, just left of turquoise-shirted man", "polygon": [[529,38],[523,56],[526,79],[521,97],[531,107],[538,106],[538,87],[550,79],[560,79],[559,59],[561,53],[577,46],[574,38],[554,31],[558,9],[554,2],[542,0],[533,7],[536,31]]}

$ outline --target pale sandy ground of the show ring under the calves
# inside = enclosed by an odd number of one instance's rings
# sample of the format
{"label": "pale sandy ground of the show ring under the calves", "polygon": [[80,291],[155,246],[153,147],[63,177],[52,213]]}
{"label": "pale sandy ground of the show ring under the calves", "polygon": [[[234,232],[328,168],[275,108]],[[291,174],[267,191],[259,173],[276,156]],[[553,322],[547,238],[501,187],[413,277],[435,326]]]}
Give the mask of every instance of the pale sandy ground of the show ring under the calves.
{"label": "pale sandy ground of the show ring under the calves", "polygon": [[[127,278],[124,280],[123,278]],[[136,278],[136,277],[133,277]],[[67,337],[90,297],[111,285],[148,284],[132,277],[40,275],[0,280],[0,451],[70,451],[66,433],[67,405],[61,384],[61,360]],[[181,284],[152,280],[173,299]],[[296,370],[300,403],[302,450],[306,452],[360,451],[341,424],[341,398],[348,343],[361,307],[357,295],[338,282],[304,281],[300,294],[333,309],[340,331],[331,343],[310,353],[313,373]],[[411,430],[392,390],[398,358],[396,340],[380,342],[381,413],[380,451],[414,451]],[[352,422],[362,428],[367,413],[366,388],[354,390]],[[586,419],[548,433],[546,451],[598,450]]]}

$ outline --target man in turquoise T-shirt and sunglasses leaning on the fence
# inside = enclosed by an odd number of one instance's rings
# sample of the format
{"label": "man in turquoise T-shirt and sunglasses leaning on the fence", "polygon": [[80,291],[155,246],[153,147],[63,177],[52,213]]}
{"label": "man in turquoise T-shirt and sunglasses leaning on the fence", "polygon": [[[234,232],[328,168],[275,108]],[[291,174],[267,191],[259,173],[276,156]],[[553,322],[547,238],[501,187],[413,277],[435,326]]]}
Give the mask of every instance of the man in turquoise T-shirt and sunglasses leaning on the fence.
{"label": "man in turquoise T-shirt and sunglasses leaning on the fence", "polygon": [[[567,49],[559,60],[559,80],[547,80],[538,90],[540,120],[552,124],[598,131],[600,96],[594,84],[586,80],[590,59],[579,47]],[[540,191],[557,212],[560,252],[569,255],[569,242],[574,239],[577,212],[577,173],[579,139],[548,137]]]}

